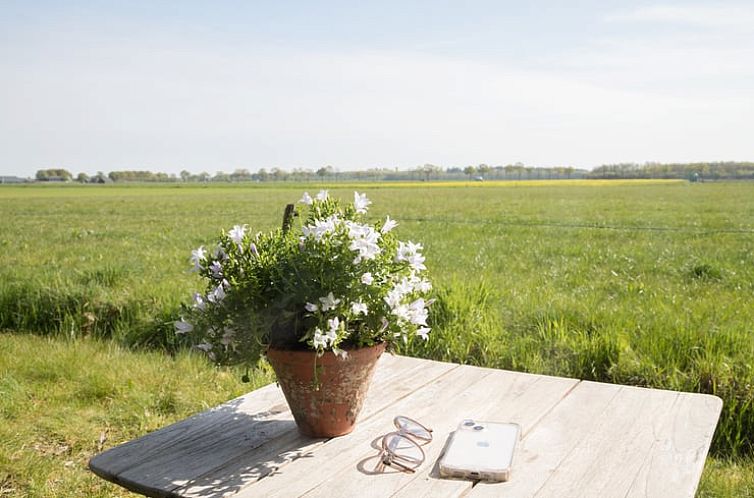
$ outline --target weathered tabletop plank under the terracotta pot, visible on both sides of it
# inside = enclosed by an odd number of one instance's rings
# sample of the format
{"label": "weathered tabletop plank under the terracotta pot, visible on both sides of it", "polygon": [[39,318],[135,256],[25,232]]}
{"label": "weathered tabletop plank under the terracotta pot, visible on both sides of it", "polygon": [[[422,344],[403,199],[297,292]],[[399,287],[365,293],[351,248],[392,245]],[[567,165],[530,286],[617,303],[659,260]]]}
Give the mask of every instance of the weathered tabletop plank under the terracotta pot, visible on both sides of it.
{"label": "weathered tabletop plank under the terracotta pot, visible on both sides of it", "polygon": [[[358,424],[410,395],[421,385],[457,368],[458,365],[451,363],[396,357],[386,369],[388,374],[380,379],[375,378]],[[223,456],[222,459],[215,459],[216,462],[208,465],[205,472],[195,474],[194,479],[175,488],[173,493],[207,496],[208,491],[212,490],[213,496],[232,495],[272,472],[279,472],[298,458],[309,457],[325,441],[302,436],[292,427],[262,447],[249,448],[232,458]]]}

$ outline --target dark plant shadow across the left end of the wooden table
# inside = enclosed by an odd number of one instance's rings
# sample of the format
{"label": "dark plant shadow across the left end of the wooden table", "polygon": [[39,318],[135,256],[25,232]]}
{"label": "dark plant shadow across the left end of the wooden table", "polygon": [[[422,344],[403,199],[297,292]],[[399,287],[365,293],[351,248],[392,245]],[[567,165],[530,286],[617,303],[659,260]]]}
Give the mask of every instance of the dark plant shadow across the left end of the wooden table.
{"label": "dark plant shadow across the left end of the wooden table", "polygon": [[323,439],[299,434],[285,400],[246,413],[238,398],[95,456],[100,477],[148,496],[233,494],[306,457]]}

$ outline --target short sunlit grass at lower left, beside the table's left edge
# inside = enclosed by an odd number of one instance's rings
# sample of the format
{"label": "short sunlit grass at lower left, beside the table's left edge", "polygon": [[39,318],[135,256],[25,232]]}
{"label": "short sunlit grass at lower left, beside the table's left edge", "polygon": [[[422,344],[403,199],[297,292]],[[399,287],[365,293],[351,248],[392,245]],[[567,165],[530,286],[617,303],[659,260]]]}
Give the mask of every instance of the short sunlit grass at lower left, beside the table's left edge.
{"label": "short sunlit grass at lower left, beside the table's left edge", "polygon": [[0,496],[131,496],[89,458],[272,380],[239,375],[188,353],[0,334]]}

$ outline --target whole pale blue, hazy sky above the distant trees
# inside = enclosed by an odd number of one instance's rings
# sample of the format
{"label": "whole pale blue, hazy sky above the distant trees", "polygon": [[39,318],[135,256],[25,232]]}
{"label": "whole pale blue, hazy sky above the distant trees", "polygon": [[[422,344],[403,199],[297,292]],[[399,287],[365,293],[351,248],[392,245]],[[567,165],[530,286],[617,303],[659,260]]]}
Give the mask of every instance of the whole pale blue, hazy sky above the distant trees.
{"label": "whole pale blue, hazy sky above the distant trees", "polygon": [[754,2],[0,0],[0,174],[754,160]]}

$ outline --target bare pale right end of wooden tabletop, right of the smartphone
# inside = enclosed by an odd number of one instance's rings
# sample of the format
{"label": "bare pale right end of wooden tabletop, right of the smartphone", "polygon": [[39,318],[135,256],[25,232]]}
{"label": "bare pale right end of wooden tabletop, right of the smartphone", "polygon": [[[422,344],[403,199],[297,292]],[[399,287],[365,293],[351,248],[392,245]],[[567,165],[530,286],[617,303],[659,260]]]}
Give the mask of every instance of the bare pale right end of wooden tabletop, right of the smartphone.
{"label": "bare pale right end of wooden tabletop, right of the smartphone", "polygon": [[472,498],[693,496],[719,399],[582,382],[528,434],[511,481]]}

